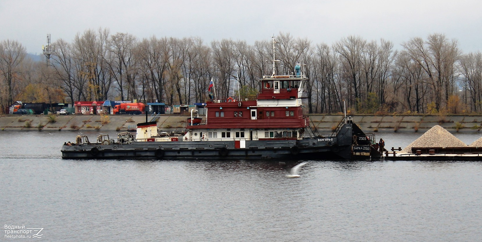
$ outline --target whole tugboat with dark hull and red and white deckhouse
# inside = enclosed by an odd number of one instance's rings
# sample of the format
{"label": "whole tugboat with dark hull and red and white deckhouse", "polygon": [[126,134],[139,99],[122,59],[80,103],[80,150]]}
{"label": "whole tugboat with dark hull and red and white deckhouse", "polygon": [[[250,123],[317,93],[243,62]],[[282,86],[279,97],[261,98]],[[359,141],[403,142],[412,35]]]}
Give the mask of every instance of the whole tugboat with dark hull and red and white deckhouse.
{"label": "whole tugboat with dark hull and red and white deckhouse", "polygon": [[[273,42],[274,39],[273,39]],[[274,44],[273,44],[274,48]],[[77,136],[65,143],[63,158],[157,159],[351,159],[381,156],[375,134],[366,135],[345,117],[332,134],[320,135],[303,114],[302,94],[308,78],[301,65],[291,75],[264,75],[256,98],[211,99],[199,117],[191,110],[184,135],[159,135],[155,121],[137,124],[136,135],[123,132],[117,141],[99,135],[96,143]],[[211,85],[210,85],[211,87]]]}

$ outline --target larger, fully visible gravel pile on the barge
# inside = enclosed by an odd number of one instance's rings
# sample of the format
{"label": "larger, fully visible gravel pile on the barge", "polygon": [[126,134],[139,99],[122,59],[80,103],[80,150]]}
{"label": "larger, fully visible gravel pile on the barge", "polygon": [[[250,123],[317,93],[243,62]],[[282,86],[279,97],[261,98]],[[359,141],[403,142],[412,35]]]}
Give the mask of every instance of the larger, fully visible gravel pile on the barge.
{"label": "larger, fully visible gravel pile on the barge", "polygon": [[467,145],[442,126],[435,125],[405,147],[402,152],[411,153],[412,147],[467,147]]}

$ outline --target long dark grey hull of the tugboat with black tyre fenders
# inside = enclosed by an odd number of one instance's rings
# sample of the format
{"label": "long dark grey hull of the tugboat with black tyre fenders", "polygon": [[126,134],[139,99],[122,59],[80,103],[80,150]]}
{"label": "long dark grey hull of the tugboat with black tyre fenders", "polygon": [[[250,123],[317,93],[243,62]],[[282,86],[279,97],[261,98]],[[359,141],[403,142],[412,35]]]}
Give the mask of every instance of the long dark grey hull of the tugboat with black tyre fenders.
{"label": "long dark grey hull of the tugboat with black tyre fenders", "polygon": [[319,139],[246,141],[132,142],[131,144],[64,145],[62,158],[147,158],[147,159],[346,159],[350,147]]}

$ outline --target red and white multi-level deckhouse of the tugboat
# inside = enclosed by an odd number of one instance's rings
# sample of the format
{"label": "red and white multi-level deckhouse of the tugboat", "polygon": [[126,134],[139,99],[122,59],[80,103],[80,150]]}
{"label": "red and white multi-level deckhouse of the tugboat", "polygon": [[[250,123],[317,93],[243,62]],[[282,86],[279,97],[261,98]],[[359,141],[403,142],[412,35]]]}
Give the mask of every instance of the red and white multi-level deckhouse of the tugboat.
{"label": "red and white multi-level deckhouse of the tugboat", "polygon": [[308,78],[297,74],[263,76],[261,92],[254,100],[229,97],[209,101],[206,117],[188,119],[185,139],[301,139],[309,125],[301,102]]}

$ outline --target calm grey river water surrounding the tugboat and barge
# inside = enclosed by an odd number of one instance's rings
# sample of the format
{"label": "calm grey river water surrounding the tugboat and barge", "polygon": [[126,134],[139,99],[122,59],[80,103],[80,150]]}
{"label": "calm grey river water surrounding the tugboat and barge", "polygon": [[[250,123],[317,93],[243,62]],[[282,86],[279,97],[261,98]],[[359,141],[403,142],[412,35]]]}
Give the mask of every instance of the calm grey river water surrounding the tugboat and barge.
{"label": "calm grey river water surrounding the tugboat and barge", "polygon": [[[297,163],[64,160],[78,133],[51,133],[0,132],[1,226],[43,228],[35,239],[2,229],[1,241],[482,238],[482,162],[308,161],[287,179]],[[376,135],[403,148],[421,134]]]}

